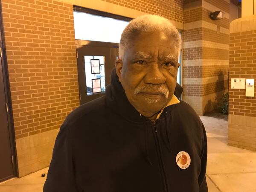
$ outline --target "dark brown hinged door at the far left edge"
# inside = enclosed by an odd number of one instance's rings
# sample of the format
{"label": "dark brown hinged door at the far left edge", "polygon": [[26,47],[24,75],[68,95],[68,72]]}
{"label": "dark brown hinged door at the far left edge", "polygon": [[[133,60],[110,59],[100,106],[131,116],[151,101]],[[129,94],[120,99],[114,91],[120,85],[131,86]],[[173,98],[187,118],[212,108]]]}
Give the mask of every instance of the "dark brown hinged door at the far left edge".
{"label": "dark brown hinged door at the far left edge", "polygon": [[[1,11],[1,7],[0,7]],[[2,13],[2,11],[1,11]],[[2,14],[0,13],[0,182],[16,176],[14,133],[11,130],[9,95],[4,52]]]}

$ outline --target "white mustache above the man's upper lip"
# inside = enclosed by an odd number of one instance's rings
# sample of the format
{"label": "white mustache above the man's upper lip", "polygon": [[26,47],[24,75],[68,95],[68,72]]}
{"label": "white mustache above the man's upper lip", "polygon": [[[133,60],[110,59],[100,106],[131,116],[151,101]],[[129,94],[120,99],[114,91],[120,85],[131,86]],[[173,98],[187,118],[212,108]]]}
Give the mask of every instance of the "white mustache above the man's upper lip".
{"label": "white mustache above the man's upper lip", "polygon": [[163,84],[161,84],[161,85],[147,84],[143,87],[136,87],[135,90],[134,90],[135,95],[138,94],[138,93],[144,93],[144,92],[161,93],[166,97],[169,96],[169,90]]}

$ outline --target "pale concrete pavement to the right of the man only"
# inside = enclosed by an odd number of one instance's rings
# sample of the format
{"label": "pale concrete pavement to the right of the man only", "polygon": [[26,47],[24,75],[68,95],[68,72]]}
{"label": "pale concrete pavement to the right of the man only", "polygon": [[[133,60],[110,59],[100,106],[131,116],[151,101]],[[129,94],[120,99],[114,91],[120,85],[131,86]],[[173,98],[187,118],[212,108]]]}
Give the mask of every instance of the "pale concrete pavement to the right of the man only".
{"label": "pale concrete pavement to the right of the man only", "polygon": [[227,121],[200,118],[207,131],[209,192],[256,192],[256,151],[227,145]]}

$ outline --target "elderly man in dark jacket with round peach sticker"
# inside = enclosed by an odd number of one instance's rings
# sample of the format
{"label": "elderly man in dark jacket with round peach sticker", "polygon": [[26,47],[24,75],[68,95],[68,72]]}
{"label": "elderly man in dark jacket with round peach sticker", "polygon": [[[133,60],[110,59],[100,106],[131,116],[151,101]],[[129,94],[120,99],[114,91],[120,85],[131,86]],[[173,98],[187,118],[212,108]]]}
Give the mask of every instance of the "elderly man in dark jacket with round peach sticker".
{"label": "elderly man in dark jacket with round peach sticker", "polygon": [[44,192],[207,192],[204,125],[174,95],[177,29],[138,17],[119,51],[106,95],[61,126]]}

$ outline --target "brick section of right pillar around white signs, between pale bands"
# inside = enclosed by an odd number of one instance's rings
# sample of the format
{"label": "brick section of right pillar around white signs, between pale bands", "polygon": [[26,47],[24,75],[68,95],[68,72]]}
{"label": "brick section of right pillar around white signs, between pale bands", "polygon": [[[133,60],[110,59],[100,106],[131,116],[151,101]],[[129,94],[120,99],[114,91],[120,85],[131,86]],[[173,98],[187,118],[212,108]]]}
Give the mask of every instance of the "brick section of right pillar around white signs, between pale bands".
{"label": "brick section of right pillar around white signs, between pale bands", "polygon": [[[230,78],[256,79],[256,30],[230,33]],[[229,114],[256,117],[256,97],[246,97],[245,89],[229,94]]]}

